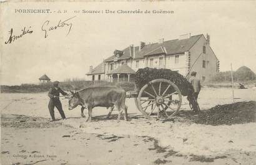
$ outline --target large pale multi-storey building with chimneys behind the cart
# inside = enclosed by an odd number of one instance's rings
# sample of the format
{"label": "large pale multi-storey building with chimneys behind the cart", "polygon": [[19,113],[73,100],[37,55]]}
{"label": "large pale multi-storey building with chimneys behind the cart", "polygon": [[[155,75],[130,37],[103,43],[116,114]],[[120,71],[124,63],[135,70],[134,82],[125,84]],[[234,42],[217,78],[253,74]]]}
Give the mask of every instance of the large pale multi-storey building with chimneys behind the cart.
{"label": "large pale multi-storey building with chimneys behind the cart", "polygon": [[104,60],[96,68],[90,67],[89,80],[132,81],[139,68],[169,68],[186,76],[197,72],[197,77],[207,80],[219,72],[219,60],[210,47],[210,35],[180,35],[179,39],[153,44],[140,42],[130,45]]}

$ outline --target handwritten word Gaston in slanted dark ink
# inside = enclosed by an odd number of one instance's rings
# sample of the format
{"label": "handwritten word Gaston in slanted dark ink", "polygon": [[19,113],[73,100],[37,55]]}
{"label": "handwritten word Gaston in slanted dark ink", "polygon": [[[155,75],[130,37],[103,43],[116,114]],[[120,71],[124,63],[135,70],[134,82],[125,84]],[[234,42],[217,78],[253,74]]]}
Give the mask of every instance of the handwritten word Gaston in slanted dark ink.
{"label": "handwritten word Gaston in slanted dark ink", "polygon": [[[76,17],[76,16],[74,16],[74,17]],[[48,36],[49,31],[54,31],[54,30],[57,30],[57,29],[60,29],[63,27],[69,27],[69,31],[67,32],[67,35],[68,35],[69,32],[71,31],[72,23],[68,23],[67,21],[73,19],[74,17],[66,19],[65,21],[59,20],[59,22],[56,26],[50,26],[50,27],[49,27],[50,21],[44,22],[44,24],[42,24],[42,27],[41,27],[42,31],[44,31],[44,38],[46,38]]]}

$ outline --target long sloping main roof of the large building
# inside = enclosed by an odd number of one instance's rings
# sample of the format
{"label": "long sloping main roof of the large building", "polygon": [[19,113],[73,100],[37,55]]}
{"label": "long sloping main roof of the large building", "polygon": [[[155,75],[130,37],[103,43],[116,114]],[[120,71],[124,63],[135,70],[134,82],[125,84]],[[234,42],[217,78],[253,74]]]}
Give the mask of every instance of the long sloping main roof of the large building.
{"label": "long sloping main roof of the large building", "polygon": [[[145,55],[154,55],[154,54],[162,54],[165,53],[167,55],[170,54],[179,54],[182,52],[189,51],[191,47],[197,42],[197,40],[202,37],[203,34],[191,36],[189,39],[175,39],[175,40],[167,40],[163,43],[153,43],[145,45],[141,50],[139,47],[134,47],[135,56],[134,59],[142,59]],[[126,49],[122,50],[124,54],[119,57],[117,60],[129,59],[132,58],[130,55],[130,47],[126,47]],[[105,62],[109,62],[115,59],[115,55],[104,60]]]}

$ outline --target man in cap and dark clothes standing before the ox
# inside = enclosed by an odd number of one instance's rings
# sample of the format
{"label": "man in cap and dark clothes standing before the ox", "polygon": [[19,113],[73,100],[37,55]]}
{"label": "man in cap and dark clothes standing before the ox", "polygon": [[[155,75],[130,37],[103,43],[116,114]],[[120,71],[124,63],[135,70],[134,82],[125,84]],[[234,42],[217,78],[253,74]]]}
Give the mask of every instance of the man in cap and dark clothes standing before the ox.
{"label": "man in cap and dark clothes standing before the ox", "polygon": [[66,92],[64,92],[63,90],[61,90],[61,88],[59,88],[59,82],[53,82],[53,86],[50,88],[48,96],[50,98],[49,101],[49,111],[50,111],[50,115],[52,118],[52,121],[55,120],[54,117],[54,107],[56,106],[57,110],[59,111],[59,114],[61,114],[61,118],[64,120],[66,119],[66,116],[64,114],[64,111],[62,110],[62,105],[61,105],[61,101],[59,100],[59,93],[61,93],[62,95],[67,95]]}

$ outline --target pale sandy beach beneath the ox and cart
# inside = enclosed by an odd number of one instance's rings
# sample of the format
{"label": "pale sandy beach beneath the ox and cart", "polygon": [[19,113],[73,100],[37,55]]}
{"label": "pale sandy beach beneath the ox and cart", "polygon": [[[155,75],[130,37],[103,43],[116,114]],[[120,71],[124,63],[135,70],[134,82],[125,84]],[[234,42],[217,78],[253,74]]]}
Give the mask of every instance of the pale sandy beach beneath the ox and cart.
{"label": "pale sandy beach beneath the ox and cart", "polygon": [[[204,88],[202,110],[230,103],[229,92]],[[256,90],[235,93],[239,101],[256,100]],[[48,99],[46,93],[1,93],[1,164],[256,164],[256,123],[195,124],[182,116],[189,111],[185,99],[174,120],[155,121],[128,98],[130,120],[119,123],[117,111],[106,119],[106,108],[95,108],[85,123],[79,108],[67,110],[67,100],[61,100],[67,120],[49,122]]]}

